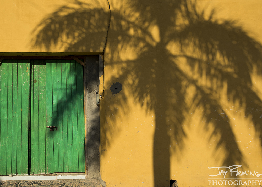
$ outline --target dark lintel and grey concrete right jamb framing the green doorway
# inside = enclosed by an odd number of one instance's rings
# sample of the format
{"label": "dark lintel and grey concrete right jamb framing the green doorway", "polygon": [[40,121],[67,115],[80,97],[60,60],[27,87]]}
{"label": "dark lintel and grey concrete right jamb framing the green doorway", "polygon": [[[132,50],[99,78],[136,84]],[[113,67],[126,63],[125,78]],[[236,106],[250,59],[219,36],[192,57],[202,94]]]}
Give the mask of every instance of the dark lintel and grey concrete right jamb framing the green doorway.
{"label": "dark lintel and grey concrete right jamb framing the green doorway", "polygon": [[[84,64],[81,64],[76,58],[83,59]],[[101,72],[103,74],[102,54],[86,56],[0,56],[0,59],[74,59],[84,66],[85,178],[99,177],[100,116],[99,106],[96,105],[96,94],[99,94],[99,77],[101,77]],[[90,131],[94,131],[95,135],[94,132]],[[88,155],[88,152],[93,152],[94,155]]]}

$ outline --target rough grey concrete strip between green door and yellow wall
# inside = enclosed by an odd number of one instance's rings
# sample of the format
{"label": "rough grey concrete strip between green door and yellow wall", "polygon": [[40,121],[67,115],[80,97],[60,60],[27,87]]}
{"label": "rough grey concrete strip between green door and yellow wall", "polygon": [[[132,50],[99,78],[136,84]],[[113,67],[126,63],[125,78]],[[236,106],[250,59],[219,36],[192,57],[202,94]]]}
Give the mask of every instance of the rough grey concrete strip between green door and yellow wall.
{"label": "rough grey concrete strip between green door and yellow wall", "polygon": [[99,144],[100,144],[100,118],[99,106],[96,105],[97,85],[99,85],[99,60],[87,59],[87,103],[86,103],[86,178],[99,178]]}

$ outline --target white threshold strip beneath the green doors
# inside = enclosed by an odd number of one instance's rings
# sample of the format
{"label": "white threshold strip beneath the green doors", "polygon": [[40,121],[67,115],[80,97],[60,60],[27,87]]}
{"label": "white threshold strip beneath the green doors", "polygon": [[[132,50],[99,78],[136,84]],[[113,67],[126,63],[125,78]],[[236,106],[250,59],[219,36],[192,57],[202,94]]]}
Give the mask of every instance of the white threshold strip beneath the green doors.
{"label": "white threshold strip beneath the green doors", "polygon": [[0,176],[0,181],[4,181],[4,180],[61,180],[61,179],[85,179],[85,175]]}

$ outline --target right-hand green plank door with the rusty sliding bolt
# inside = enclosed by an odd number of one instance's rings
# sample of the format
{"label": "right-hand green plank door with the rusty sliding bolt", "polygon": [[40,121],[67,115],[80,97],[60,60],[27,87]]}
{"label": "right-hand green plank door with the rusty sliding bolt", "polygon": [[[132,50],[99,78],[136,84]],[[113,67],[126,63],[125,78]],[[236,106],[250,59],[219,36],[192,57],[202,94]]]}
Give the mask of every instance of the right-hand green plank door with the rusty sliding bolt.
{"label": "right-hand green plank door with the rusty sliding bolt", "polygon": [[[30,173],[84,172],[83,66],[75,60],[31,64]],[[45,126],[56,126],[58,131]]]}

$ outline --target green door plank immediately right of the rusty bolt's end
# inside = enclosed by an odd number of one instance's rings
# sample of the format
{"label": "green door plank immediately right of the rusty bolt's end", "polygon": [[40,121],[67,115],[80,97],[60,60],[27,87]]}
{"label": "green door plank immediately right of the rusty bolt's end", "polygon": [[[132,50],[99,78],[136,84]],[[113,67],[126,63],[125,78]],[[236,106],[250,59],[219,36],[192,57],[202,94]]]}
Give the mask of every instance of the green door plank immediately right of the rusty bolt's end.
{"label": "green door plank immediately right of the rusty bolt's end", "polygon": [[57,60],[57,116],[58,116],[58,167],[59,172],[64,172],[64,158],[63,158],[63,97],[62,97],[62,64],[61,60]]}

